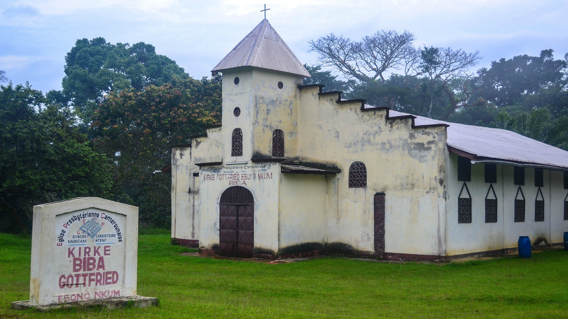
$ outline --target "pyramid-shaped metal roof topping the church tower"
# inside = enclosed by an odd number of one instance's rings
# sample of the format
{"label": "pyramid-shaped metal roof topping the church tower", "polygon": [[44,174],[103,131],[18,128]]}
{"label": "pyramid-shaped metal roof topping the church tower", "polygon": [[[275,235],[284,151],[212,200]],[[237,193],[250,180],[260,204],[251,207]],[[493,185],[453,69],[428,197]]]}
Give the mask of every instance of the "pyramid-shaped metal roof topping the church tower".
{"label": "pyramid-shaped metal roof topping the church tower", "polygon": [[211,72],[239,66],[256,66],[310,77],[310,73],[304,68],[302,62],[298,60],[266,18],[250,31]]}

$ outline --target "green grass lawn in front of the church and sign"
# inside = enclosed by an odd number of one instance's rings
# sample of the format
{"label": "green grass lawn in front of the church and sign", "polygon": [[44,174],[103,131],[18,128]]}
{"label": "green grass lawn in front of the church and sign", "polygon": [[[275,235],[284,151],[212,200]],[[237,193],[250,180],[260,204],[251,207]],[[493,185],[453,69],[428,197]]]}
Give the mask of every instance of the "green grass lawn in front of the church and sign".
{"label": "green grass lawn in front of the church and sign", "polygon": [[268,265],[179,255],[169,233],[139,240],[138,293],[160,306],[12,310],[28,299],[28,236],[0,234],[0,318],[567,318],[568,251],[426,265],[344,258]]}

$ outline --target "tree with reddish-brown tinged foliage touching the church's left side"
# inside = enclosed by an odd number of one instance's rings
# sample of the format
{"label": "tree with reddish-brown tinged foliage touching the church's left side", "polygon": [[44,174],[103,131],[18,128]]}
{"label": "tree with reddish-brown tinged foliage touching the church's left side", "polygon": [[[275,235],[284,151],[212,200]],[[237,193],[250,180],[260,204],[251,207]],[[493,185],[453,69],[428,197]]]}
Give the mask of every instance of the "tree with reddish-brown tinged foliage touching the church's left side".
{"label": "tree with reddish-brown tinged foliage touching the church's left side", "polygon": [[221,120],[220,76],[173,79],[142,91],[111,92],[95,111],[91,128],[97,149],[114,159],[112,179],[122,202],[166,226],[171,216],[171,175],[153,174],[171,162],[173,145]]}

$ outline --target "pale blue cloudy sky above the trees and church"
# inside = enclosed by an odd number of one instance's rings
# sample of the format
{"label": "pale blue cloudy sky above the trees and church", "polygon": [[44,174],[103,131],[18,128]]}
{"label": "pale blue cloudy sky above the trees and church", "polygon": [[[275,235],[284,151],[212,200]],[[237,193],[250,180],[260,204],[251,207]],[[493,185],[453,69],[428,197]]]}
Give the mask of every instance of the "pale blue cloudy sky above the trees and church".
{"label": "pale blue cloudy sky above the trees and church", "polygon": [[175,1],[0,0],[0,70],[13,83],[61,89],[65,54],[77,39],[143,41],[194,78],[210,70],[264,18],[300,61],[315,64],[308,41],[335,33],[360,40],[408,30],[415,45],[479,51],[478,67],[520,54],[568,52],[568,1],[358,0]]}

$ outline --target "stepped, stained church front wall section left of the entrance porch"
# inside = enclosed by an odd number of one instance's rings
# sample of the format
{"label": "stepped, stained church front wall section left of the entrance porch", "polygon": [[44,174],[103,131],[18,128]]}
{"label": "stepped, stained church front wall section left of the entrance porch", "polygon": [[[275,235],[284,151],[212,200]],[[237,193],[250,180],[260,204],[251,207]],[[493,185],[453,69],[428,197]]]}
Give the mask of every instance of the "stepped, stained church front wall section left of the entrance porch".
{"label": "stepped, stained church front wall section left of the entrance porch", "polygon": [[222,160],[222,128],[192,138],[191,146],[172,150],[172,237],[199,240],[199,172],[195,163]]}

